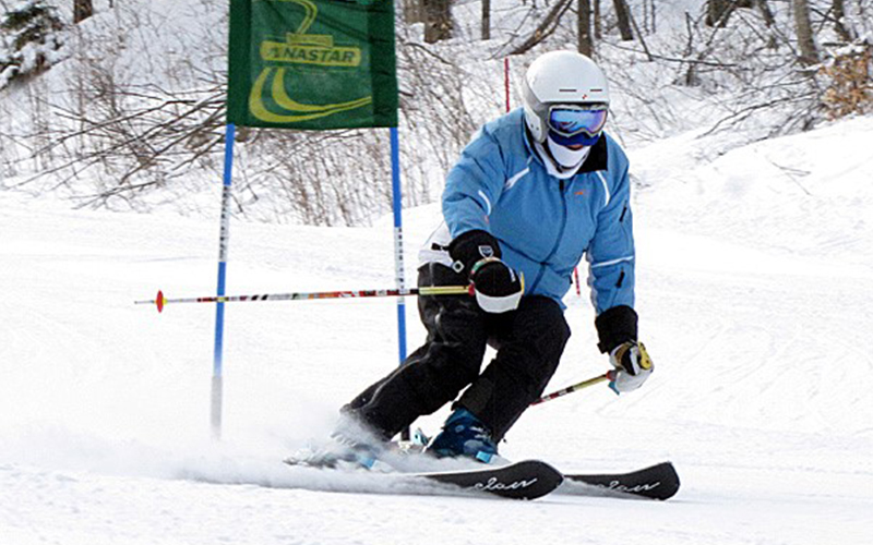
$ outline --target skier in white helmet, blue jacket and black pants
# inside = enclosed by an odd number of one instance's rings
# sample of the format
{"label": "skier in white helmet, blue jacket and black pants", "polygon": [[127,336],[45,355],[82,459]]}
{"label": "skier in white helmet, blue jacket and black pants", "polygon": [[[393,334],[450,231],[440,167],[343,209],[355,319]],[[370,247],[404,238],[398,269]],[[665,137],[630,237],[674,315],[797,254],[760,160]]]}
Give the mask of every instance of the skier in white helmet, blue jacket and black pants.
{"label": "skier in white helmet, blue jacket and black pants", "polygon": [[[603,133],[606,76],[583,55],[548,52],[527,70],[523,99],[464,149],[444,223],[421,252],[420,287],[471,283],[475,298],[419,298],[424,344],[343,408],[347,459],[368,464],[381,441],[454,401],[427,451],[491,461],[558,367],[570,337],[561,299],[583,255],[610,387],[634,390],[653,372],[637,342],[627,159]],[[497,356],[480,373],[489,343]]]}

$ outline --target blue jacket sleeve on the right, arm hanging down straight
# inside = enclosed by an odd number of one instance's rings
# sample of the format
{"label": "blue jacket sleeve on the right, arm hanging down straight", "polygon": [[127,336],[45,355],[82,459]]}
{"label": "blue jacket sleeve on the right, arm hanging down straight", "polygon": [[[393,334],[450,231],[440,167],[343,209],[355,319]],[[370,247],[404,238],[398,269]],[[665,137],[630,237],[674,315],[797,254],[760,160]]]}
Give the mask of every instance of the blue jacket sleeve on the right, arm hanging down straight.
{"label": "blue jacket sleeve on the right, arm hanging down straight", "polygon": [[[610,149],[612,154],[612,149]],[[634,235],[631,213],[631,183],[623,154],[614,164],[615,173],[595,172],[607,189],[607,203],[597,216],[597,228],[588,245],[588,286],[597,314],[617,307],[634,306]],[[610,167],[613,167],[612,165]]]}

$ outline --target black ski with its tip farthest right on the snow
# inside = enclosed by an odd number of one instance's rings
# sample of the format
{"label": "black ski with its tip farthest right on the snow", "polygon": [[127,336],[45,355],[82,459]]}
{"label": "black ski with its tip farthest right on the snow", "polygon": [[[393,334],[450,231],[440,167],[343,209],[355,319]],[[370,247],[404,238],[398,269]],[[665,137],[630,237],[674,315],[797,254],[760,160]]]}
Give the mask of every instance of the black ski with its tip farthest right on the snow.
{"label": "black ski with its tip farthest right on the snow", "polygon": [[575,496],[637,497],[669,499],[679,492],[679,474],[670,462],[630,473],[565,473],[560,494]]}

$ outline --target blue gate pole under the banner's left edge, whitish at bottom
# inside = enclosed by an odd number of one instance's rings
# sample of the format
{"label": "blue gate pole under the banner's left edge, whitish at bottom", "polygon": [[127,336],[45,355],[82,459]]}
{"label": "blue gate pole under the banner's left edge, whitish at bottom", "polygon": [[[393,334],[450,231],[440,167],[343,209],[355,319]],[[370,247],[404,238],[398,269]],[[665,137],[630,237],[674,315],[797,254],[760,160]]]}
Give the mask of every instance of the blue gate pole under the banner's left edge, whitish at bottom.
{"label": "blue gate pole under the banner's left edge, whitish at bottom", "polygon": [[[222,187],[222,230],[218,237],[218,296],[225,295],[225,284],[227,280],[227,245],[230,239],[230,183],[234,170],[234,141],[236,140],[237,128],[234,123],[228,123],[225,136],[225,175],[224,186]],[[212,424],[212,436],[214,439],[222,438],[222,356],[224,353],[224,332],[225,332],[225,304],[215,305],[215,351],[212,367],[212,399],[210,422]]]}

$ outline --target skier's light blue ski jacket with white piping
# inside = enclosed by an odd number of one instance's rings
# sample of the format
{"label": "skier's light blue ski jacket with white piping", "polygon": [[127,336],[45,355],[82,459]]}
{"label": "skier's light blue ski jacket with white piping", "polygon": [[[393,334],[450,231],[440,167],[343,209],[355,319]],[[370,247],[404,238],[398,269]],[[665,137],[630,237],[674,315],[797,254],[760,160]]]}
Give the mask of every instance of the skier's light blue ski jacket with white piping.
{"label": "skier's light blue ski jacket with white piping", "polygon": [[442,208],[452,238],[481,229],[524,274],[525,294],[560,304],[588,261],[597,314],[634,305],[634,238],[627,158],[606,133],[579,172],[549,174],[514,110],[487,123],[449,172]]}

